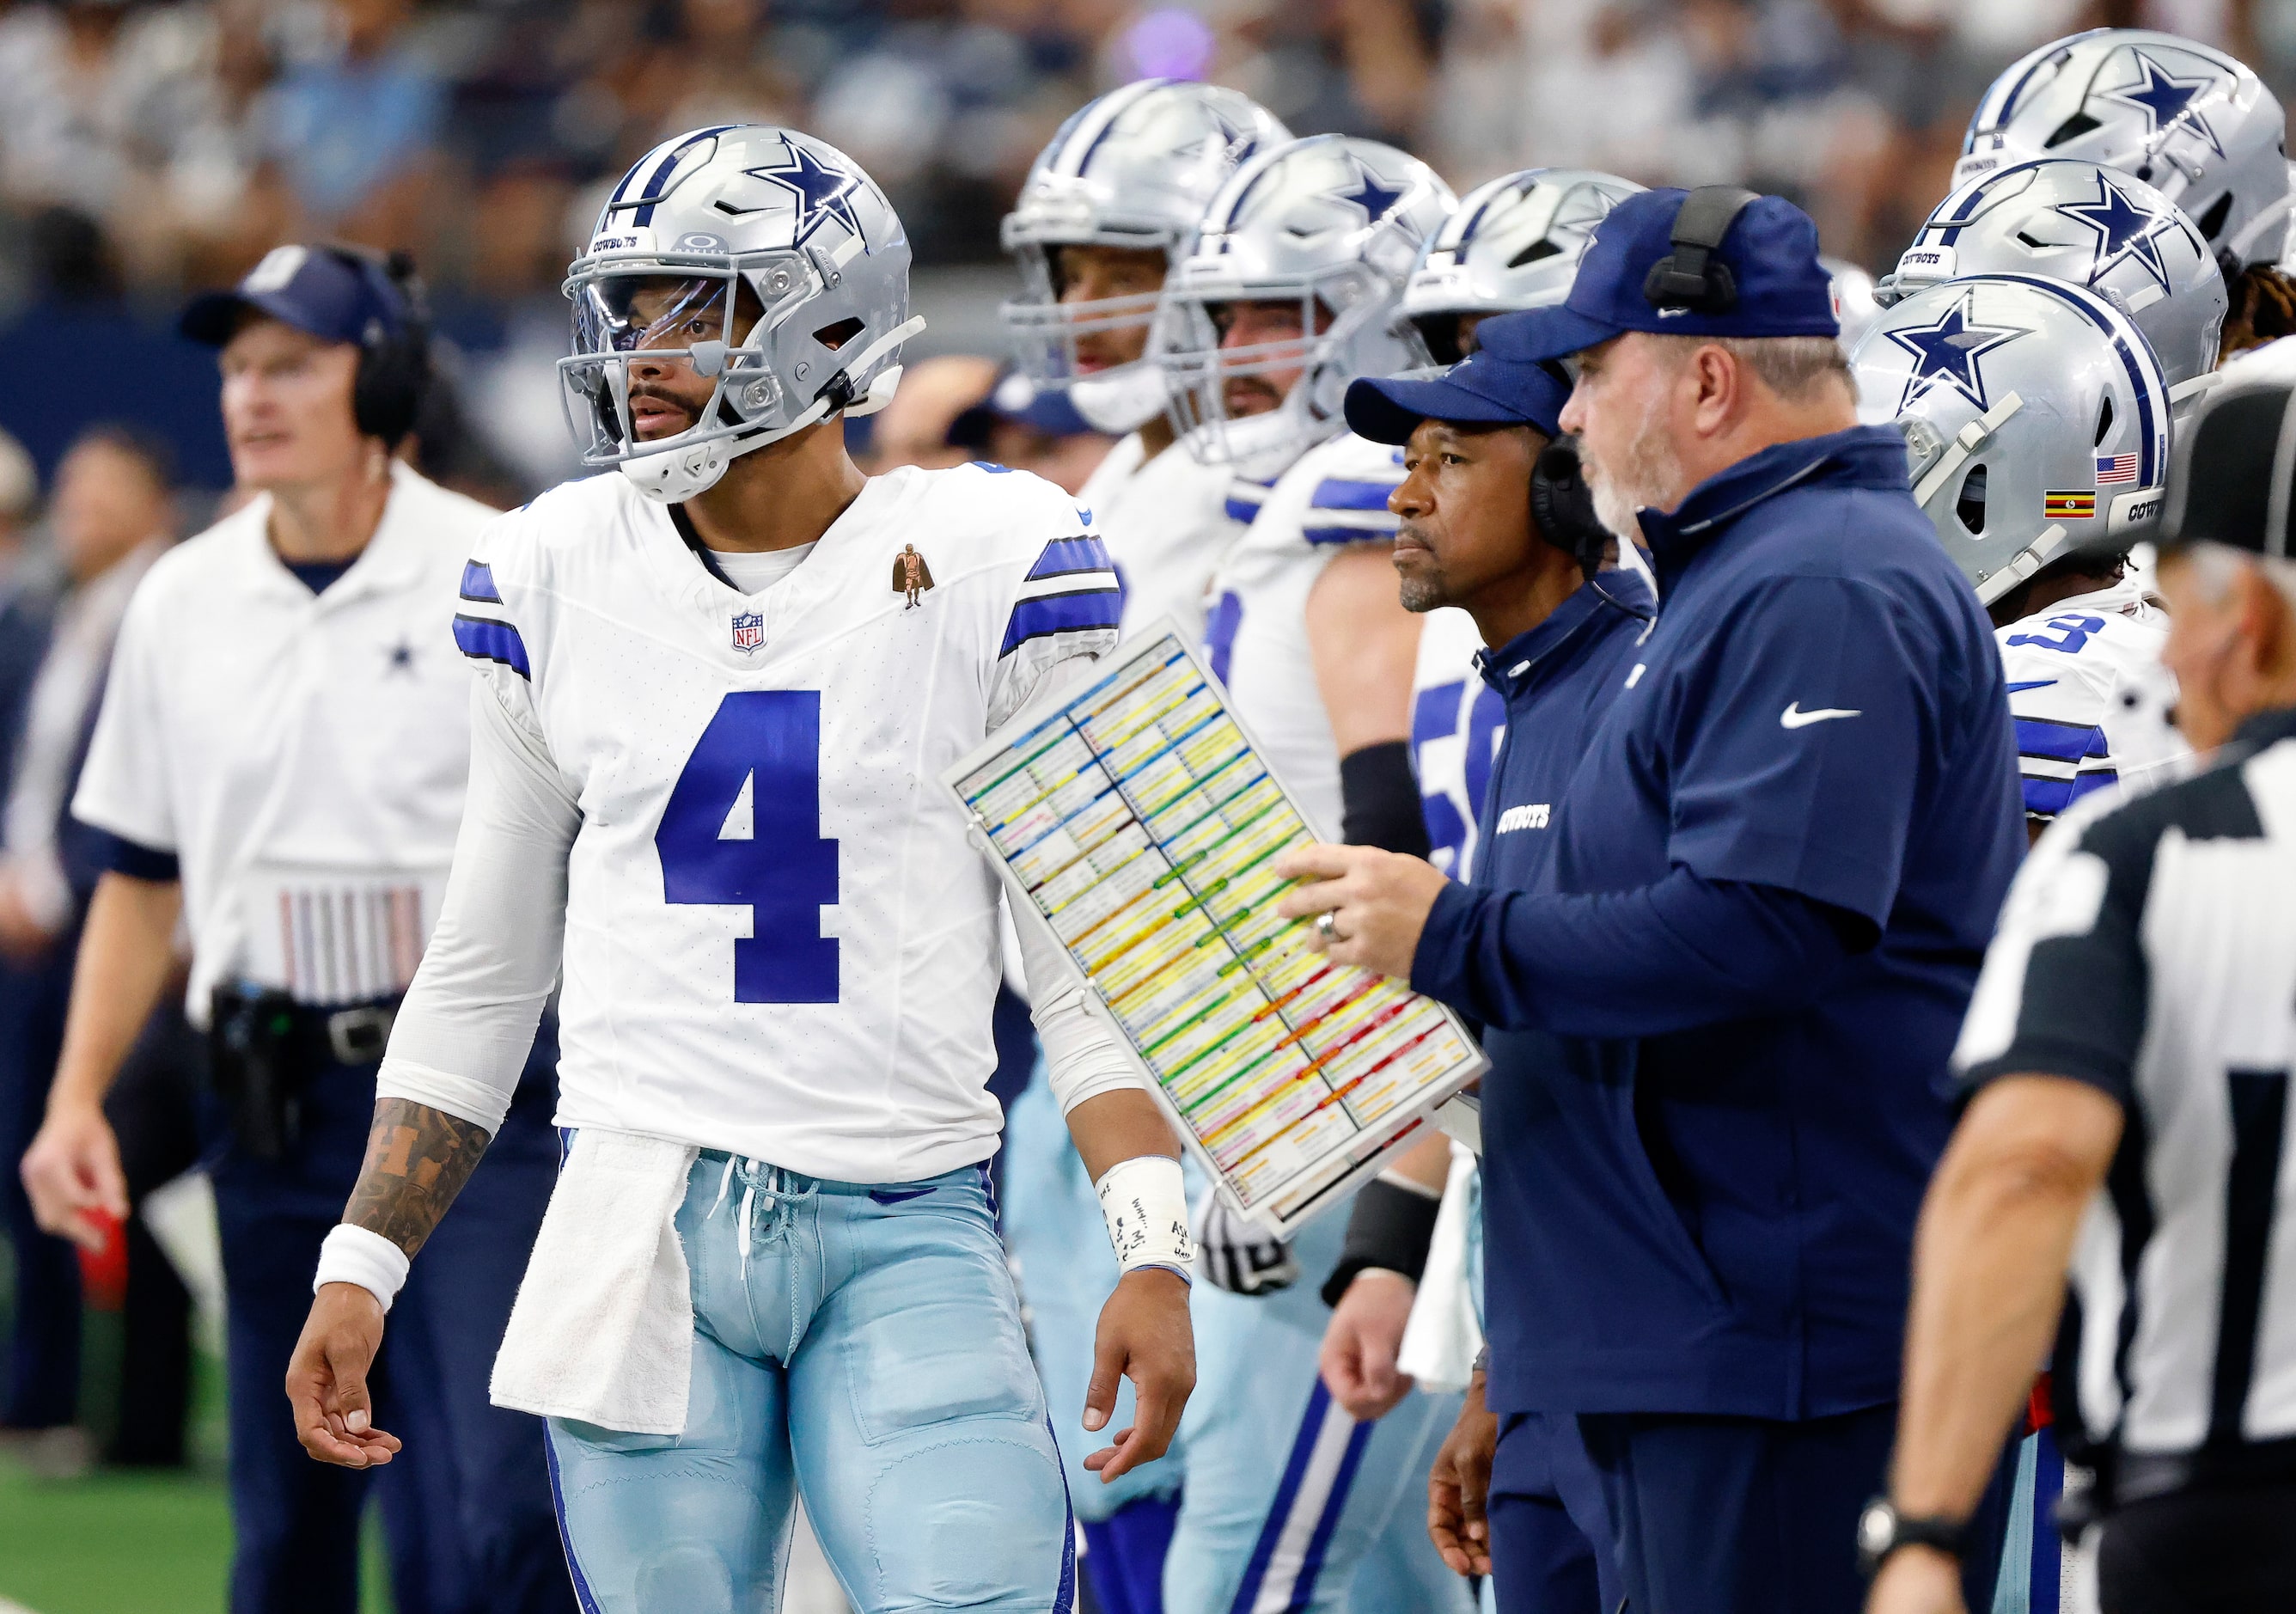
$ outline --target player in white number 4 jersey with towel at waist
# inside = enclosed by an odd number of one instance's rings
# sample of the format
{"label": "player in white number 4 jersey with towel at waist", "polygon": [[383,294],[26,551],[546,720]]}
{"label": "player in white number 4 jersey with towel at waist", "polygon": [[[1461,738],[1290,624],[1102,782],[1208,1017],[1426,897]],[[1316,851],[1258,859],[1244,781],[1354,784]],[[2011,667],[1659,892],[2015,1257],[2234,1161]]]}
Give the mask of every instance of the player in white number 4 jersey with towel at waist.
{"label": "player in white number 4 jersey with towel at waist", "polygon": [[[1114,643],[1052,484],[863,478],[909,248],[843,154],[650,152],[567,289],[585,461],[464,576],[473,778],[289,1396],[388,1460],[365,1366],[563,969],[572,1146],[494,1373],[549,1414],[585,1607],[776,1607],[801,1495],[861,1609],[1068,1609],[1061,1460],[980,1162],[999,882],[937,776]],[[1031,707],[1033,709],[1033,707]],[[1024,937],[1038,937],[1035,930]],[[1049,939],[1035,1024],[1125,1270],[1091,1384],[1153,1460],[1192,1382],[1171,1132]]]}

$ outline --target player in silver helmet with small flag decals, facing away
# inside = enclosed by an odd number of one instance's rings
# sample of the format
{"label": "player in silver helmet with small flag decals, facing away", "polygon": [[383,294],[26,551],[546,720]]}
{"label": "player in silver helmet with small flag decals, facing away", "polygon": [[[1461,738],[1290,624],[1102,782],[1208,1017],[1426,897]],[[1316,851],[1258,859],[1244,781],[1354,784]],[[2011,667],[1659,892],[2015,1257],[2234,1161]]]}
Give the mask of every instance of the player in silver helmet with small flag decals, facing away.
{"label": "player in silver helmet with small flag decals, facing away", "polygon": [[2149,696],[2167,618],[2128,576],[2167,478],[2170,386],[2103,296],[2039,276],[1947,280],[1855,354],[1860,413],[1906,434],[1915,496],[1998,627],[2034,836],[2172,767]]}

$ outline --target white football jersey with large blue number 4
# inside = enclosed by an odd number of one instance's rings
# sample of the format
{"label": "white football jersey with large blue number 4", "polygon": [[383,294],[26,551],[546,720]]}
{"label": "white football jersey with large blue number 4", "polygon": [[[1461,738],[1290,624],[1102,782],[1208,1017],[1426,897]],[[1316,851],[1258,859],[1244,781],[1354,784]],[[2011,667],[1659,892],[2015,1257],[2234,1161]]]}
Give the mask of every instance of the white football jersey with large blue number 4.
{"label": "white football jersey with large blue number 4", "polygon": [[999,882],[939,774],[1116,643],[1077,505],[893,471],[739,595],[602,475],[489,528],[461,592],[464,652],[581,813],[560,1125],[845,1182],[985,1159]]}

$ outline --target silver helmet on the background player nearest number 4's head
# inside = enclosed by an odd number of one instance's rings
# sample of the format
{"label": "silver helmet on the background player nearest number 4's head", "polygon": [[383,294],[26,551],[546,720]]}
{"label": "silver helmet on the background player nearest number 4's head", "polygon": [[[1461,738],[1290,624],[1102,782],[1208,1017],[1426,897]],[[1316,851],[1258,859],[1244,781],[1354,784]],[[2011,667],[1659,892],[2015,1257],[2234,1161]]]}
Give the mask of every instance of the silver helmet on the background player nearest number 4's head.
{"label": "silver helmet on the background player nearest number 4's head", "polygon": [[1146,335],[1162,289],[1063,303],[1058,248],[1159,250],[1169,271],[1235,165],[1286,140],[1290,131],[1251,96],[1176,78],[1111,90],[1061,124],[1001,227],[1022,278],[1022,294],[1001,310],[1019,367],[1040,386],[1065,386],[1102,432],[1153,420],[1164,409],[1155,358],[1095,372],[1079,363],[1077,337]]}

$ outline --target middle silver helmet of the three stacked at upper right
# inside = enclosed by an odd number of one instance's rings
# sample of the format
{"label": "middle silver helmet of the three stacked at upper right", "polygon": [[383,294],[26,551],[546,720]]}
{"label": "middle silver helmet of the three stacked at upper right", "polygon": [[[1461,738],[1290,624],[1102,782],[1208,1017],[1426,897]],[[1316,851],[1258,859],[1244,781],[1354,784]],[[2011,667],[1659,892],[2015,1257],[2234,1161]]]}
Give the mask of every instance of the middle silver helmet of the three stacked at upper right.
{"label": "middle silver helmet of the three stacked at upper right", "polygon": [[1938,202],[1880,296],[1958,276],[2071,280],[2135,321],[2172,388],[2216,370],[2225,276],[2183,209],[2124,172],[2050,158],[1979,174]]}

